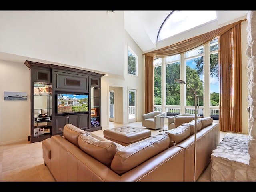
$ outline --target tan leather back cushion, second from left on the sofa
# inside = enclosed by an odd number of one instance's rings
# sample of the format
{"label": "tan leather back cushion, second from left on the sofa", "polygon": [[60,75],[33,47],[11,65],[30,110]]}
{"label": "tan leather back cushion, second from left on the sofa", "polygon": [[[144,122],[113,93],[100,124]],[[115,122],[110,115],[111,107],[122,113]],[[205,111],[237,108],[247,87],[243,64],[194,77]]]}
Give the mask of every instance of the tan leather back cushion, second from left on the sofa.
{"label": "tan leather back cushion, second from left on the sofa", "polygon": [[81,150],[110,168],[112,159],[117,152],[116,143],[98,140],[87,132],[78,136],[78,144]]}

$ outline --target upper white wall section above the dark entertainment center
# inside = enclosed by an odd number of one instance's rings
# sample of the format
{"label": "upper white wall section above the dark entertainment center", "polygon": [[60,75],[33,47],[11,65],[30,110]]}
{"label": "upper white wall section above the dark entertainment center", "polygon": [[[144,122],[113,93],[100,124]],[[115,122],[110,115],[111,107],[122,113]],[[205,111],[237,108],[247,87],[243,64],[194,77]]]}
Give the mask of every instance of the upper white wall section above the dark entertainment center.
{"label": "upper white wall section above the dark entertainment center", "polygon": [[123,11],[0,11],[0,29],[0,52],[124,75]]}

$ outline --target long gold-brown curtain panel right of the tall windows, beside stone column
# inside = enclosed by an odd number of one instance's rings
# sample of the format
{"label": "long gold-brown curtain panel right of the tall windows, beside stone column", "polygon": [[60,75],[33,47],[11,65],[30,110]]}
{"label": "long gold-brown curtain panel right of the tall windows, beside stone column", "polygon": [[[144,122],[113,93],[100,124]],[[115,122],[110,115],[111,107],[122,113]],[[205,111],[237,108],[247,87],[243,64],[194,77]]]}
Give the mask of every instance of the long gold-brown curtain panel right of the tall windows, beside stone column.
{"label": "long gold-brown curtain panel right of the tall windows, beside stone column", "polygon": [[220,131],[242,132],[241,23],[218,36]]}

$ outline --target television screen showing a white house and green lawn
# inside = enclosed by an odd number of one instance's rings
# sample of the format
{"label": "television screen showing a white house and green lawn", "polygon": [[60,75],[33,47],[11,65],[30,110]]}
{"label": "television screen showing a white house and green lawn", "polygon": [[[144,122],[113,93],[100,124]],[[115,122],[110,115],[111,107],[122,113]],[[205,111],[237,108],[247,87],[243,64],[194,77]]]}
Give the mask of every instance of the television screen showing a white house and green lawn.
{"label": "television screen showing a white house and green lawn", "polygon": [[57,94],[57,114],[89,112],[88,94]]}

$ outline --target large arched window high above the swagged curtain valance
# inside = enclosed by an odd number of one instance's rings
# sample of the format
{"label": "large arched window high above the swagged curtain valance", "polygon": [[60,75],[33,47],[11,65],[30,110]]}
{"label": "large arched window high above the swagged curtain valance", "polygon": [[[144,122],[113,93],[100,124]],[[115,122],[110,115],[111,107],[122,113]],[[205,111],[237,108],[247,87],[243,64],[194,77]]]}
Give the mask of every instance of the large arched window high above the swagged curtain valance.
{"label": "large arched window high above the swagged curtain valance", "polygon": [[216,11],[172,11],[162,23],[157,41],[216,20]]}

